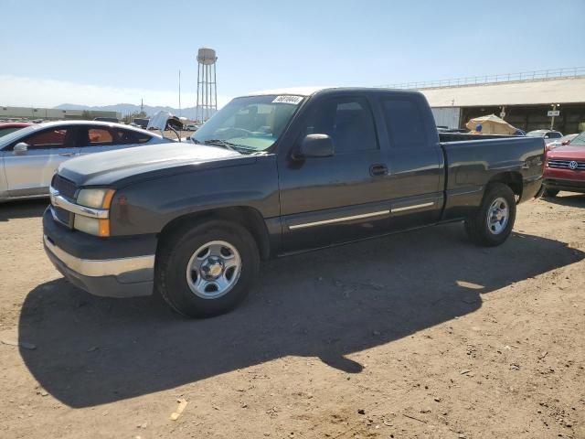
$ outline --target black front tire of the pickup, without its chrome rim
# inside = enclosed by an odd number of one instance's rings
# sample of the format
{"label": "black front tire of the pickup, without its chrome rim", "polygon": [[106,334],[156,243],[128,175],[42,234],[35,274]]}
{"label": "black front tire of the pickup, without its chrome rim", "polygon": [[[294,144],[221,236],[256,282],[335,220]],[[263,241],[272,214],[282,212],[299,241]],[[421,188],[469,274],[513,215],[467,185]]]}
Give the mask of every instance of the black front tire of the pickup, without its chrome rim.
{"label": "black front tire of the pickup, without its chrome rim", "polygon": [[[187,224],[164,238],[156,255],[155,289],[177,313],[188,317],[210,317],[227,313],[250,292],[260,269],[260,254],[250,232],[225,220]],[[187,283],[187,263],[212,241],[225,241],[238,252],[241,271],[227,293],[203,298]]]}

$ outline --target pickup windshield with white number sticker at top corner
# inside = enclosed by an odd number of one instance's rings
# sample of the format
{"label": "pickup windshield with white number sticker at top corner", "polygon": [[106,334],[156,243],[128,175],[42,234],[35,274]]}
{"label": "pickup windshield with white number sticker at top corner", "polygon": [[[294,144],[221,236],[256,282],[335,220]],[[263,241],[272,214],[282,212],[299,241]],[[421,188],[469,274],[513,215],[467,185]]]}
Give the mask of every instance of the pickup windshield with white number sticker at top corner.
{"label": "pickup windshield with white number sticker at top corner", "polygon": [[191,135],[191,140],[228,145],[243,153],[265,151],[278,140],[303,99],[277,95],[236,98]]}

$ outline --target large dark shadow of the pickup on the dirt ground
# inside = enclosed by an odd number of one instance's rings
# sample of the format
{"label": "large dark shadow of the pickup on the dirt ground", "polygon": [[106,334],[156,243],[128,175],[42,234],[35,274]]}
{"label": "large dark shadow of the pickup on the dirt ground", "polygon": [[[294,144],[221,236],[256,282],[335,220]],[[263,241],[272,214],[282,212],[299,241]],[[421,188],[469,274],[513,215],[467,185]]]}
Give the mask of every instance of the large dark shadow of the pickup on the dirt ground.
{"label": "large dark shadow of the pickup on the dirt ground", "polygon": [[452,224],[267,262],[243,305],[207,320],[176,316],[155,297],[94,297],[60,279],[27,295],[19,337],[37,349],[20,353],[40,385],[71,407],[289,355],[358,373],[346,355],[472,313],[482,294],[584,256],[522,233],[482,249]]}

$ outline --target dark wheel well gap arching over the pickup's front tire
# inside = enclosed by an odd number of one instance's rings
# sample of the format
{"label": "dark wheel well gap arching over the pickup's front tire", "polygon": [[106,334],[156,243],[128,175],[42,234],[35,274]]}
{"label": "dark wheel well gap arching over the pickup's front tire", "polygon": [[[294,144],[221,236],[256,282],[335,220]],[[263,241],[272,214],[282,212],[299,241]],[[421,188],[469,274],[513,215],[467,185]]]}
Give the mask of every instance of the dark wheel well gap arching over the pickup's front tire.
{"label": "dark wheel well gap arching over the pickup's front tire", "polygon": [[224,219],[230,222],[235,222],[240,226],[244,226],[250,231],[254,241],[256,241],[261,259],[265,260],[270,257],[270,239],[264,219],[262,219],[261,213],[258,210],[245,206],[203,210],[173,219],[158,233],[159,242],[163,241],[165,236],[169,235],[173,230],[184,227],[189,223],[200,222],[208,219]]}

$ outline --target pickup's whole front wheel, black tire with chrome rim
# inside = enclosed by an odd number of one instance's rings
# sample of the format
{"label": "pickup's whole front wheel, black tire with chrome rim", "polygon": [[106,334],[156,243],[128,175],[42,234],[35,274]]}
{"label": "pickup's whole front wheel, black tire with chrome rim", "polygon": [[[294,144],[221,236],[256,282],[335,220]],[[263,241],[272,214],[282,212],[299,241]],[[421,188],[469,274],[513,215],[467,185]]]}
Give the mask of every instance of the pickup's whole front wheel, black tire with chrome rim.
{"label": "pickup's whole front wheel, black tire with chrome rim", "polygon": [[258,248],[248,230],[210,220],[185,226],[162,242],[156,289],[184,316],[218,316],[246,297],[259,267]]}

